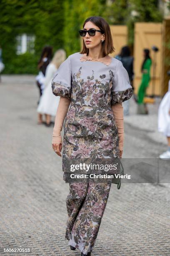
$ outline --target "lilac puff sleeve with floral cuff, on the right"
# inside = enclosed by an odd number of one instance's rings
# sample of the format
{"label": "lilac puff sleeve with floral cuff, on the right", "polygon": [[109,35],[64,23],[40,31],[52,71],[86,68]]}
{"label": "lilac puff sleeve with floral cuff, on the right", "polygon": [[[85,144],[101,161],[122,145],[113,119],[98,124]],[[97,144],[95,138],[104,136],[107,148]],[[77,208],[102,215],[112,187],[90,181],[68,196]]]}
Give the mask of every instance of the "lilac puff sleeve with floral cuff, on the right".
{"label": "lilac puff sleeve with floral cuff, on the right", "polygon": [[112,99],[110,105],[130,99],[133,95],[133,87],[130,85],[128,72],[123,67],[121,61],[117,62],[112,82]]}

